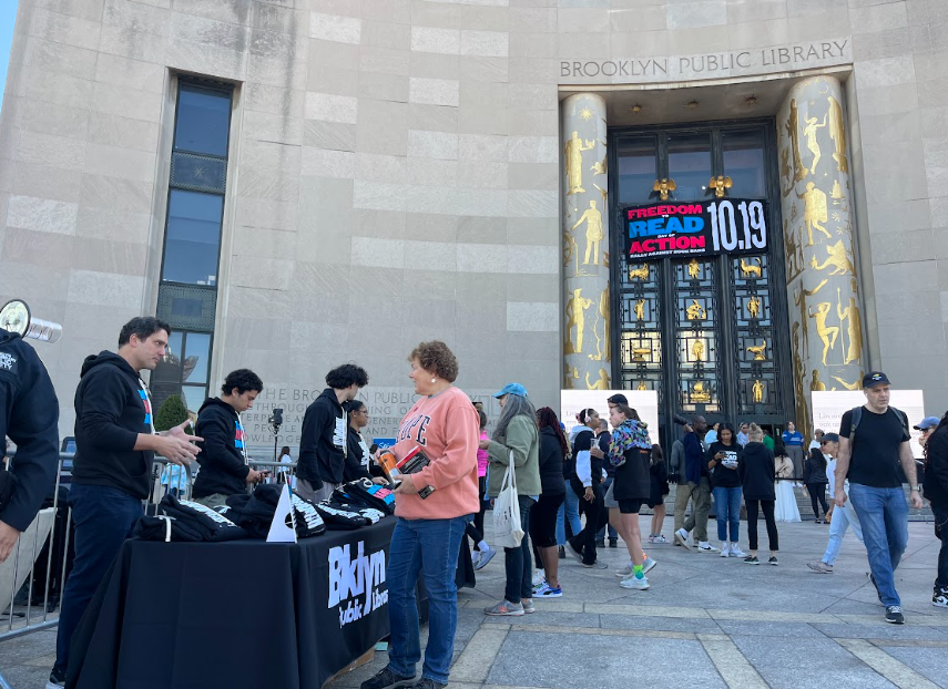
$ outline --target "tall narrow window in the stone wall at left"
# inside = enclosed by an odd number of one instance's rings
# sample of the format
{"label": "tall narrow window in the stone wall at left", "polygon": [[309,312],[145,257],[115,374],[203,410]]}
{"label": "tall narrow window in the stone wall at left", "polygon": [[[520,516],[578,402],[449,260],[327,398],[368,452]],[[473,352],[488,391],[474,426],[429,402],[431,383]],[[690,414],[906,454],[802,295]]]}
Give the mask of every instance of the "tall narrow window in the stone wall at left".
{"label": "tall narrow window in the stone wall at left", "polygon": [[232,90],[179,82],[157,316],[174,332],[152,376],[156,405],[179,395],[197,411],[210,393]]}

